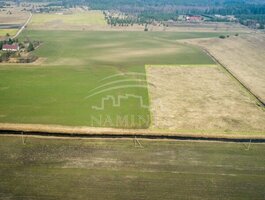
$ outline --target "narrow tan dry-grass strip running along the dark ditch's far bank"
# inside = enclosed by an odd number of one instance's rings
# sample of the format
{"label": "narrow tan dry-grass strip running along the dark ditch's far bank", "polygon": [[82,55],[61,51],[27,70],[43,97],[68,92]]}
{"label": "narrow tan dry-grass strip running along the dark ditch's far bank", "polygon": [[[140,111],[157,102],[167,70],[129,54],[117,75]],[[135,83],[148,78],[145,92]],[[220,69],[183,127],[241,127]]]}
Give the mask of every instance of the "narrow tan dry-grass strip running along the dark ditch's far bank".
{"label": "narrow tan dry-grass strip running along the dark ditch's far bank", "polygon": [[[7,124],[0,123],[0,130],[16,131],[19,133],[37,133],[45,135],[47,133],[56,135],[80,135],[80,136],[145,136],[145,137],[190,137],[190,138],[213,138],[213,139],[265,139],[264,132],[232,132],[232,131],[196,131],[196,130],[161,130],[161,129],[116,129],[116,128],[96,128],[96,127],[71,127],[60,125],[41,124]],[[2,132],[3,132],[2,131]]]}

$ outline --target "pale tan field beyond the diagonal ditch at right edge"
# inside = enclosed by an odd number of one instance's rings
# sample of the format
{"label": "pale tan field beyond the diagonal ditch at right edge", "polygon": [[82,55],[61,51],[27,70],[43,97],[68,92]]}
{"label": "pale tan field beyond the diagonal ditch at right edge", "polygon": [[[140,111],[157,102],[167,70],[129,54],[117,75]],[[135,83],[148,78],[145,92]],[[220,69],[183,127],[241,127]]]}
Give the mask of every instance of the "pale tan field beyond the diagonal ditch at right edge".
{"label": "pale tan field beyond the diagonal ditch at right edge", "polygon": [[265,102],[265,35],[252,33],[226,39],[189,40],[213,55]]}

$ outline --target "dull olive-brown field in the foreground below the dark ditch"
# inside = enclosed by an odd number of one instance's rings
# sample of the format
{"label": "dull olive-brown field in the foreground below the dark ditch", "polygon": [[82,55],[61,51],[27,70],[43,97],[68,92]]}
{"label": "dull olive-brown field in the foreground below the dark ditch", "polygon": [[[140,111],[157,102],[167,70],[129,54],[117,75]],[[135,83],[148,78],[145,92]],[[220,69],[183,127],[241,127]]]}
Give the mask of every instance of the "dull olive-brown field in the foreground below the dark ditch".
{"label": "dull olive-brown field in the foreground below the dark ditch", "polygon": [[0,199],[264,199],[264,144],[0,137]]}

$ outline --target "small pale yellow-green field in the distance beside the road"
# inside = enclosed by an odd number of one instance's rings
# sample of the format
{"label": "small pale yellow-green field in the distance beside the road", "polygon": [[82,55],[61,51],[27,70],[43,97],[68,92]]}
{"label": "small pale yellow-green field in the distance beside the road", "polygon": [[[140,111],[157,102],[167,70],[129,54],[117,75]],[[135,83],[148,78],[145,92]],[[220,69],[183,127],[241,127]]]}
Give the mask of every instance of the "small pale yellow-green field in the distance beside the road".
{"label": "small pale yellow-green field in the distance beside the road", "polygon": [[34,14],[30,26],[44,26],[46,23],[57,23],[66,25],[107,25],[101,11],[89,11],[74,14]]}

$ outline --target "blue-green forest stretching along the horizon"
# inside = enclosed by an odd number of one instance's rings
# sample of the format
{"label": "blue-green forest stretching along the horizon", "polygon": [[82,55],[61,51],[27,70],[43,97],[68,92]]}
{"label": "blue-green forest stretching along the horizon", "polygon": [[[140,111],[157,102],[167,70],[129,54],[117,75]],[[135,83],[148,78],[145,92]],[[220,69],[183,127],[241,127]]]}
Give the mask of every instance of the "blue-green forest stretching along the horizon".
{"label": "blue-green forest stretching along the horizon", "polygon": [[[110,24],[148,24],[153,21],[176,20],[179,15],[234,15],[246,26],[264,29],[264,0],[13,0],[14,2],[46,2],[47,7],[88,6],[93,10],[119,11],[130,17],[111,18]],[[1,3],[2,2],[2,3]],[[0,6],[5,1],[0,0]],[[211,18],[215,21],[217,19]],[[224,20],[225,21],[225,20]]]}

